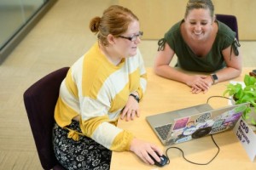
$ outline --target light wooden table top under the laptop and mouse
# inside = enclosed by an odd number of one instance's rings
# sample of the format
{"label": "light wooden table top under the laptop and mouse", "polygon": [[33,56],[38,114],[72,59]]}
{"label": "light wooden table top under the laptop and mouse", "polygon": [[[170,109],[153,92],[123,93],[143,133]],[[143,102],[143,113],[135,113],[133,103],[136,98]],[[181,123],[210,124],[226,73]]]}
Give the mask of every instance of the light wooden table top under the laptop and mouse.
{"label": "light wooden table top under the laptop and mouse", "polygon": [[[253,68],[244,68],[241,77],[237,77],[236,81],[243,81],[244,74],[248,74]],[[200,105],[207,103],[207,99],[211,96],[222,96],[227,82],[219,82],[213,85],[206,94],[191,94],[190,88],[180,82],[168,80],[163,77],[158,77],[154,74],[152,68],[147,68],[148,71],[148,88],[142,102],[140,103],[141,116],[131,122],[119,120],[118,127],[127,129],[134,133],[137,138],[158,144],[164,147],[157,136],[154,134],[145,116],[154,115],[166,111],[174,111],[184,107]],[[193,73],[190,73],[193,74]],[[213,108],[228,105],[228,99],[212,98],[209,104]],[[149,166],[141,161],[135,154],[125,152],[113,152],[111,169],[112,170],[134,170],[134,169],[254,169],[256,161],[250,161],[246,151],[242,148],[241,143],[236,138],[233,131],[218,133],[213,135],[216,143],[220,147],[218,156],[208,165],[194,165],[183,159],[182,153],[179,150],[171,149],[168,151],[170,164],[165,167]],[[210,136],[201,139],[191,140],[182,144],[175,144],[184,151],[185,156],[190,161],[206,163],[210,161],[217,152],[216,146],[213,144]]]}

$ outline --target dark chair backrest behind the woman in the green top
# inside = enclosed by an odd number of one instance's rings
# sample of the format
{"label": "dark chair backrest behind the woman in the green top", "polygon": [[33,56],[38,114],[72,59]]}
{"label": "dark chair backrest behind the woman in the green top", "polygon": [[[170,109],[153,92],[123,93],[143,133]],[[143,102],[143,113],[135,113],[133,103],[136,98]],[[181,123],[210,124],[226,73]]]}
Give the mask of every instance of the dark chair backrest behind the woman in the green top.
{"label": "dark chair backrest behind the woman in the green top", "polygon": [[235,15],[230,14],[216,14],[216,19],[229,26],[232,31],[236,32],[236,39],[238,39],[238,25]]}

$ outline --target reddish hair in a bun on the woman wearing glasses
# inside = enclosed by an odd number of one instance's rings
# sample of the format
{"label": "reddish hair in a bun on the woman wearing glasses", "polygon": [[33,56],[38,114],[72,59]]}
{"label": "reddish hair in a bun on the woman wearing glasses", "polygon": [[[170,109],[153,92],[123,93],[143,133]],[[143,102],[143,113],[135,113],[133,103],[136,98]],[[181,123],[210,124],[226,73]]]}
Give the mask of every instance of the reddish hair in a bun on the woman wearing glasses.
{"label": "reddish hair in a bun on the woman wearing glasses", "polygon": [[107,8],[102,17],[96,16],[90,20],[90,31],[97,34],[98,40],[104,46],[108,46],[108,34],[118,37],[127,31],[133,20],[138,20],[137,16],[130,9],[112,5]]}

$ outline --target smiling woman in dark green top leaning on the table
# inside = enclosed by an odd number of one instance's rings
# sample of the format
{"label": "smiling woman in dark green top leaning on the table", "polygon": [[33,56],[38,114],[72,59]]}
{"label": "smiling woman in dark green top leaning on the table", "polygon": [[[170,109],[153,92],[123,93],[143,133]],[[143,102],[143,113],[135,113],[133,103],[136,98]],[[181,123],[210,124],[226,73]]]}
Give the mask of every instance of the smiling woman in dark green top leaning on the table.
{"label": "smiling woman in dark green top leaning on the table", "polygon": [[[189,0],[184,19],[172,26],[158,43],[155,73],[187,84],[194,94],[207,92],[212,84],[241,74],[236,32],[215,19],[211,0]],[[178,67],[209,72],[208,76],[177,71],[169,65],[174,54],[177,55]]]}

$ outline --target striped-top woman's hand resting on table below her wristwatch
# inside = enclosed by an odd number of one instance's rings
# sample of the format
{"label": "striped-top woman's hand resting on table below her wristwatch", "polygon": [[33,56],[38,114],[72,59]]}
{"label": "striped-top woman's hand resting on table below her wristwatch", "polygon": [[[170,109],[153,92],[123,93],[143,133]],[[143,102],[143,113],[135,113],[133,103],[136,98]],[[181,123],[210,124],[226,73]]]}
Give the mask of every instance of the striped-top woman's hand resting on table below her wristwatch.
{"label": "striped-top woman's hand resting on table below her wristwatch", "polygon": [[121,113],[121,119],[123,120],[126,116],[126,121],[134,120],[135,116],[140,116],[139,104],[137,100],[132,96],[129,96],[127,104]]}

